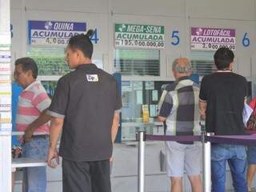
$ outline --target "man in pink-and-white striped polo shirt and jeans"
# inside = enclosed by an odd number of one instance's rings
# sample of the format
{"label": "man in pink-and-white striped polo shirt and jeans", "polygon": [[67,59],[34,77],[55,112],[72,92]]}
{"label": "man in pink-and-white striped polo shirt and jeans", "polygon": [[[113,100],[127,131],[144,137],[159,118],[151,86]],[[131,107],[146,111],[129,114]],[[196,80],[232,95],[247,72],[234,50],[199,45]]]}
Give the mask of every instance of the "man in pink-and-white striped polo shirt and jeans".
{"label": "man in pink-and-white striped polo shirt and jeans", "polygon": [[[23,90],[18,98],[16,129],[24,131],[22,157],[46,159],[49,146],[50,116],[46,110],[50,98],[41,82],[36,81],[38,67],[32,58],[15,61],[14,79]],[[25,191],[46,192],[46,167],[28,167],[24,170]]]}

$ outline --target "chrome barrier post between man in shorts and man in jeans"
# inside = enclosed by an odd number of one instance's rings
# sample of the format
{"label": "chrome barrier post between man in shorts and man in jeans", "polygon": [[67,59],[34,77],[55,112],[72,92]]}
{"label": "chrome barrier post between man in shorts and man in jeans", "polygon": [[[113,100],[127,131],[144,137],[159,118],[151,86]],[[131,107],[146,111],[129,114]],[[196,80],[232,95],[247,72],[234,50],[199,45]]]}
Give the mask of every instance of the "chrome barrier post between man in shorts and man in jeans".
{"label": "chrome barrier post between man in shorts and man in jeans", "polygon": [[202,136],[202,184],[203,191],[210,192],[211,182],[210,182],[210,142],[206,142],[206,124],[205,121],[200,122],[201,125],[201,136]]}

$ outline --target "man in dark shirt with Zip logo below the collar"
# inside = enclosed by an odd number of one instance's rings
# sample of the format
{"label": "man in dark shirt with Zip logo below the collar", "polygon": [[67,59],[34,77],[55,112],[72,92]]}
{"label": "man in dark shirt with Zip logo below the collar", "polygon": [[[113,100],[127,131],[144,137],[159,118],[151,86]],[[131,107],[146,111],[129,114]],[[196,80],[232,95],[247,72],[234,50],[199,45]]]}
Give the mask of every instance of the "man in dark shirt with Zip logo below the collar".
{"label": "man in dark shirt with Zip logo below the collar", "polygon": [[48,165],[62,156],[63,191],[110,192],[110,158],[118,131],[121,96],[115,78],[91,63],[92,31],[70,38],[66,60],[74,71],[59,79],[48,114]]}

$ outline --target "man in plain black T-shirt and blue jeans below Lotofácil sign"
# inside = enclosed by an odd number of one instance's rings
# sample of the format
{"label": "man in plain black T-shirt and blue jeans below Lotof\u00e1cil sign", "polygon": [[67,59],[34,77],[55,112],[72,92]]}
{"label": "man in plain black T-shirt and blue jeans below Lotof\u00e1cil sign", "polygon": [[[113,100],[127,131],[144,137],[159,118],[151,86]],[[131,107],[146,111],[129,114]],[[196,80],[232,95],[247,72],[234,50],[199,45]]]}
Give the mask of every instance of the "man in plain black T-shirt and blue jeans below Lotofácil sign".
{"label": "man in plain black T-shirt and blue jeans below Lotof\u00e1cil sign", "polygon": [[[247,95],[246,78],[232,73],[234,53],[219,48],[214,54],[217,73],[202,78],[199,106],[206,118],[206,131],[217,135],[244,134],[242,111]],[[213,192],[225,191],[226,161],[234,190],[246,192],[246,150],[244,146],[212,144],[211,180]]]}

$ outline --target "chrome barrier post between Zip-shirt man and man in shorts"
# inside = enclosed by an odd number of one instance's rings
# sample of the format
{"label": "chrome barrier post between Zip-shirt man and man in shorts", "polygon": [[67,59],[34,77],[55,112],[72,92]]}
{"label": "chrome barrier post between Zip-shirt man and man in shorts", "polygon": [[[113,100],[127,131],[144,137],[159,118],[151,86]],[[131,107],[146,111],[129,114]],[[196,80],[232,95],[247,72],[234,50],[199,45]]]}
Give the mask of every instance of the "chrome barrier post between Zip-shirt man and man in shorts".
{"label": "chrome barrier post between Zip-shirt man and man in shorts", "polygon": [[146,132],[138,131],[138,192],[145,192],[145,141]]}

